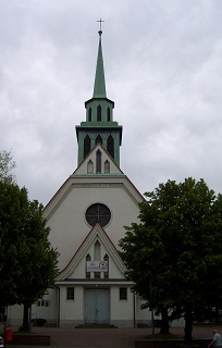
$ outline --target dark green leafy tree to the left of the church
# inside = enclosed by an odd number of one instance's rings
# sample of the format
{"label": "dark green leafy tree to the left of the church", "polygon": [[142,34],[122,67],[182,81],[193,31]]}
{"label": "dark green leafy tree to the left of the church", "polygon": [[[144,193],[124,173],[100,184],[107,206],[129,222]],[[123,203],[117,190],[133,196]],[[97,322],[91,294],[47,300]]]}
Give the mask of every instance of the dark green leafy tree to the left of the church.
{"label": "dark green leafy tree to the left of the church", "polygon": [[53,286],[58,272],[49,231],[42,206],[28,200],[26,188],[0,182],[0,304],[23,303],[25,330],[30,304]]}

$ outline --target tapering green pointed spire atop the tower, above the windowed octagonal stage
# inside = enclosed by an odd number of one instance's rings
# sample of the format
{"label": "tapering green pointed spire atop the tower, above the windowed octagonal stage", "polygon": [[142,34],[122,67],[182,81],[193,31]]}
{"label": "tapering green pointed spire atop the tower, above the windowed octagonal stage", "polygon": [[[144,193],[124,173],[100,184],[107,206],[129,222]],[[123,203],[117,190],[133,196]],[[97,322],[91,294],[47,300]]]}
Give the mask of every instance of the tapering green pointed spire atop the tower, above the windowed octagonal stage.
{"label": "tapering green pointed spire atop the tower, above the windowed octagonal stage", "polygon": [[94,83],[92,98],[107,98],[106,83],[104,83],[104,67],[103,67],[102,48],[101,48],[101,34],[102,32],[99,30],[99,49],[98,49],[98,57],[97,57],[97,69],[96,69],[96,77]]}

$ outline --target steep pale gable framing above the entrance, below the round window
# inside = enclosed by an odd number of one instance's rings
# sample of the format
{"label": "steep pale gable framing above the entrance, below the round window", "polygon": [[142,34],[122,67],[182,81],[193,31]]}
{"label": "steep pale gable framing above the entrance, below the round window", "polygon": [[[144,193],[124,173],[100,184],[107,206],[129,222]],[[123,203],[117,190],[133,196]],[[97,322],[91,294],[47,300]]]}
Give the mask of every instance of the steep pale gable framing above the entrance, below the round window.
{"label": "steep pale gable framing above the entrance, below the round window", "polygon": [[119,270],[119,273],[121,273],[121,277],[124,277],[125,266],[118,253],[116,248],[106,234],[104,229],[99,224],[97,224],[95,227],[91,228],[91,231],[89,232],[89,234],[87,235],[76,253],[73,256],[66,268],[57,276],[55,282],[75,277],[75,271],[81,264],[82,272],[85,274],[86,256],[90,247],[97,240],[103,246],[107,253],[109,254],[109,264],[113,263],[113,265]]}

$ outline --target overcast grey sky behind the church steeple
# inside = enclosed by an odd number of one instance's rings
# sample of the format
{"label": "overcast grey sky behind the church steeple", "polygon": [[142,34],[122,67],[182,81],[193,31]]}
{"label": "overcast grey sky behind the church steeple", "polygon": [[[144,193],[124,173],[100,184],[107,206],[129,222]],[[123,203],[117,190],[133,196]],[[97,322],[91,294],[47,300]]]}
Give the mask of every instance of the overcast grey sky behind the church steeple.
{"label": "overcast grey sky behind the church steeple", "polygon": [[102,18],[121,169],[144,194],[202,177],[222,192],[221,0],[1,0],[0,150],[46,204],[77,166]]}

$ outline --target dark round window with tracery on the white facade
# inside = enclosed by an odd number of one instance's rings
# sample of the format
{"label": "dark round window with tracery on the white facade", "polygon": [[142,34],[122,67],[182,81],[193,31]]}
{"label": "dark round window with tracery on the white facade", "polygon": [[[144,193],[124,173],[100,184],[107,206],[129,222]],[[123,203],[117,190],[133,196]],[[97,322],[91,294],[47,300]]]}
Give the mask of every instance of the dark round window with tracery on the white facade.
{"label": "dark round window with tracery on the white facade", "polygon": [[86,211],[86,221],[90,226],[95,226],[97,223],[104,227],[111,219],[111,212],[109,208],[102,203],[95,203],[88,207]]}

